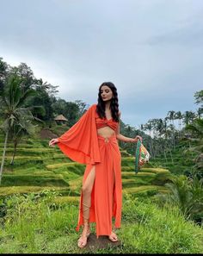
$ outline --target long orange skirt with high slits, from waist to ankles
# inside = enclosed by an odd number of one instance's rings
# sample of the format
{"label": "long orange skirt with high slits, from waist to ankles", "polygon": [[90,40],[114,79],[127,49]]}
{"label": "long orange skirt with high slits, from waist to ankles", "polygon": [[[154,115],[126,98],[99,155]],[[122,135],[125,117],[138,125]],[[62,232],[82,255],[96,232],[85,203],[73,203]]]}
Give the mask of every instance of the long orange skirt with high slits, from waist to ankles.
{"label": "long orange skirt with high slits, from waist to ankles", "polygon": [[[89,222],[95,222],[99,235],[110,235],[113,228],[120,228],[122,207],[121,156],[115,134],[109,138],[98,135],[101,162],[95,164],[95,182],[91,192]],[[86,165],[83,183],[93,165]],[[81,191],[78,223],[76,230],[83,225],[83,191]]]}

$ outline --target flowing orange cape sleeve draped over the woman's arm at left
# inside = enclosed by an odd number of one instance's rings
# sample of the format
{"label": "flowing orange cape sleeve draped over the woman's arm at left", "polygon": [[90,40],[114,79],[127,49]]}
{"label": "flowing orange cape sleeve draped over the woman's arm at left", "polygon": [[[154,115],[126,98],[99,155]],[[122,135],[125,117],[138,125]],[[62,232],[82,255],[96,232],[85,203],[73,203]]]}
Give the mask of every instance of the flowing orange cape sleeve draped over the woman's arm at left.
{"label": "flowing orange cape sleeve draped over the woman's arm at left", "polygon": [[93,104],[65,134],[58,137],[58,147],[73,161],[95,165],[100,162],[100,152],[95,126]]}

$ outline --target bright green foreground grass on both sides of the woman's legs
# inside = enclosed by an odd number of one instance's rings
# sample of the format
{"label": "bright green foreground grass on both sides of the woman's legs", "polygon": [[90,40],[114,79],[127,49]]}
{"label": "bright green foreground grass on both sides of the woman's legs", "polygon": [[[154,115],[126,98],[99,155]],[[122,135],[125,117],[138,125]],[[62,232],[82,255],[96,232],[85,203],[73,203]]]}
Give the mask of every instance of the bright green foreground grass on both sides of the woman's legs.
{"label": "bright green foreground grass on both sides of the woman's legs", "polygon": [[[77,247],[79,234],[75,231],[78,198],[54,197],[50,191],[35,196],[9,197],[7,215],[0,230],[0,253],[203,252],[202,228],[185,221],[179,209],[167,205],[160,208],[153,200],[129,195],[124,197],[122,225],[116,231],[121,246],[81,250]],[[94,233],[94,224],[91,229]]]}

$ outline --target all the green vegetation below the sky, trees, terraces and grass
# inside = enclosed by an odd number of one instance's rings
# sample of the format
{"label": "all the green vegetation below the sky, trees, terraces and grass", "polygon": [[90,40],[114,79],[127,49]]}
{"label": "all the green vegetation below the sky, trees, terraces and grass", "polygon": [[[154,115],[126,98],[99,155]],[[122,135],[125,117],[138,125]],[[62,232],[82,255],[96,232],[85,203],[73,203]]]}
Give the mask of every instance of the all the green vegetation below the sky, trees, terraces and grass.
{"label": "all the green vegetation below the sky, trees, terraces and grass", "polygon": [[[57,99],[58,86],[34,78],[26,64],[11,67],[0,58],[0,72],[0,253],[82,252],[75,228],[85,165],[48,141],[77,122],[87,105]],[[195,103],[203,103],[202,93],[195,93]],[[143,137],[151,159],[135,173],[135,144],[119,142],[122,244],[95,253],[203,252],[202,109],[170,110],[140,129],[120,121],[121,134]],[[68,123],[53,121],[61,114]]]}

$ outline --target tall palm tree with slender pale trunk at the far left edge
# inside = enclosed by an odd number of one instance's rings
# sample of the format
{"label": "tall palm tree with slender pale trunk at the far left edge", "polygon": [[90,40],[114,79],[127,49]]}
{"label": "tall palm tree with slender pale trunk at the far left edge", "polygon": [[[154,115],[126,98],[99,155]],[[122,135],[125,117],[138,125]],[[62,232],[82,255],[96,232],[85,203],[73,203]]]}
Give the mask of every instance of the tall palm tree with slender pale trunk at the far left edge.
{"label": "tall palm tree with slender pale trunk at the far left edge", "polygon": [[[22,93],[21,91],[22,78],[16,74],[11,74],[5,82],[3,93],[0,97],[1,103],[1,116],[3,116],[3,124],[1,128],[5,133],[5,140],[3,146],[3,159],[0,169],[0,184],[2,180],[3,165],[6,153],[6,146],[9,137],[9,133],[15,125],[26,127],[26,120],[33,120],[31,108],[23,107],[26,100],[35,95],[35,91],[28,89]],[[32,107],[33,108],[33,107]]]}

